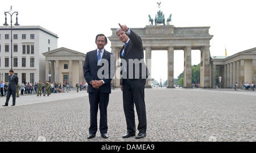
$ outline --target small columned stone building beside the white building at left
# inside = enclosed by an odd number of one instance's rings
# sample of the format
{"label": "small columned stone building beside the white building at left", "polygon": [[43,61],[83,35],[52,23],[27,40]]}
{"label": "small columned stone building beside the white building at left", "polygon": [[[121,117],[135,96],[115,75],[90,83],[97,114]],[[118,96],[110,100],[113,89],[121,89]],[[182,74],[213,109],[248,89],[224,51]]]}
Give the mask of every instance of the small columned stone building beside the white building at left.
{"label": "small columned stone building beside the white building at left", "polygon": [[46,57],[45,76],[50,82],[69,83],[75,86],[76,82],[85,82],[83,65],[85,54],[68,48],[57,48],[43,53]]}

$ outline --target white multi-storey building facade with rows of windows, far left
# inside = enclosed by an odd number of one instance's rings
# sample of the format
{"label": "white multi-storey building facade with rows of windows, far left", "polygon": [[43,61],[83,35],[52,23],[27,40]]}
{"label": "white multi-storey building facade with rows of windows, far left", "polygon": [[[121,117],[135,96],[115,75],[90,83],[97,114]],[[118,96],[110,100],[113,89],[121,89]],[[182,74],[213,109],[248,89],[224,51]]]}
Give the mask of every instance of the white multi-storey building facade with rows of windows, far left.
{"label": "white multi-storey building facade with rows of windows, far left", "polygon": [[[57,48],[57,35],[40,26],[13,28],[13,70],[19,83],[46,81],[42,53]],[[0,79],[7,82],[11,69],[11,30],[0,26]]]}

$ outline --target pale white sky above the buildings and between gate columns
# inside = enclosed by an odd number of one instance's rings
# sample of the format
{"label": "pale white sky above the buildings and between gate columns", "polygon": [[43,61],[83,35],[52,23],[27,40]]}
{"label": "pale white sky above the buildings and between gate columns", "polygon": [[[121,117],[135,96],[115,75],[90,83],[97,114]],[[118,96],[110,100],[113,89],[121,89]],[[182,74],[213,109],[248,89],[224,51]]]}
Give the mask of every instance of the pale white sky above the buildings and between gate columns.
{"label": "pale white sky above the buildings and between gate columns", "polygon": [[[156,2],[162,2],[158,8]],[[98,33],[111,36],[110,28],[118,23],[127,27],[144,28],[148,14],[155,16],[160,9],[166,18],[172,14],[175,27],[210,27],[210,55],[228,56],[256,47],[256,1],[201,1],[201,0],[147,0],[147,1],[30,1],[1,2],[0,21],[5,22],[5,11],[13,6],[18,11],[20,25],[40,25],[59,36],[58,48],[65,47],[82,53],[97,48]],[[7,18],[10,19],[10,18]],[[105,49],[111,51],[111,43]],[[183,50],[174,51],[174,77],[183,72]],[[192,65],[200,63],[200,51],[192,50]],[[167,79],[167,51],[152,51],[151,78]]]}

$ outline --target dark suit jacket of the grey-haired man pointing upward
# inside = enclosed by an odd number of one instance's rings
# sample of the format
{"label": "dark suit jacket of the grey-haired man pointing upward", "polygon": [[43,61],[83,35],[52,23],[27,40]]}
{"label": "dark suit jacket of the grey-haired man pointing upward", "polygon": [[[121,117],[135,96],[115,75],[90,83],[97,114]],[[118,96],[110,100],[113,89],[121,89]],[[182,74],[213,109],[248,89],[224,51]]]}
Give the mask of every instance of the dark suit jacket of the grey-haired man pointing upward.
{"label": "dark suit jacket of the grey-haired man pointing upward", "polygon": [[[141,37],[139,37],[136,33],[131,31],[130,35],[127,35],[130,40],[127,45],[123,45],[122,49],[119,52],[119,56],[121,59],[125,59],[127,63],[126,71],[123,73],[122,71],[121,76],[126,75],[127,79],[146,79],[148,75],[150,75],[146,64],[144,63],[144,51]],[[122,51],[125,49],[125,57],[122,56]],[[141,63],[133,63],[133,75],[132,78],[129,77],[129,59],[138,59],[141,60]],[[131,64],[130,64],[131,65]],[[135,74],[135,67],[139,67],[139,78],[135,77],[138,74]],[[143,71],[146,70],[146,71]],[[122,84],[123,78],[121,78],[120,84]]]}

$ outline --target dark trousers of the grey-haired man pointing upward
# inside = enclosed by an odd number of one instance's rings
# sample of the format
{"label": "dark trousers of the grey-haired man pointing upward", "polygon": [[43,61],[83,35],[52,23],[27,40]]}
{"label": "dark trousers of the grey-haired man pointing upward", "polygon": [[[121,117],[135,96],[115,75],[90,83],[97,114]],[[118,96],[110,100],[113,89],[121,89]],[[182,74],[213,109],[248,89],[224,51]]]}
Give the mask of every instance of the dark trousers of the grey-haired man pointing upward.
{"label": "dark trousers of the grey-haired man pointing upward", "polygon": [[144,86],[146,79],[123,79],[123,110],[125,111],[127,132],[135,132],[134,104],[138,115],[138,130],[146,133],[146,105],[144,101]]}

